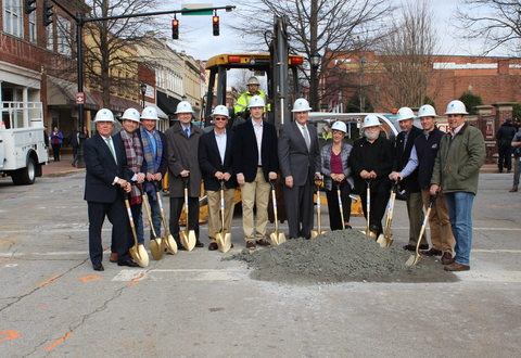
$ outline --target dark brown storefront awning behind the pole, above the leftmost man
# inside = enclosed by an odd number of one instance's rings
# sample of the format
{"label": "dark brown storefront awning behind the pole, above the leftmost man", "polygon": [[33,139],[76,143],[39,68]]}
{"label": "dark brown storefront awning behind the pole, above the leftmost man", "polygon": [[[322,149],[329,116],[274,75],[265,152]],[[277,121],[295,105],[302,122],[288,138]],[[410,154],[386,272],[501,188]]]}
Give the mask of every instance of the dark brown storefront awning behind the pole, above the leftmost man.
{"label": "dark brown storefront awning behind the pole, above the leftmost man", "polygon": [[[47,76],[47,104],[77,106],[76,93],[78,85],[65,79]],[[85,110],[99,110],[100,106],[90,92],[85,91]]]}

